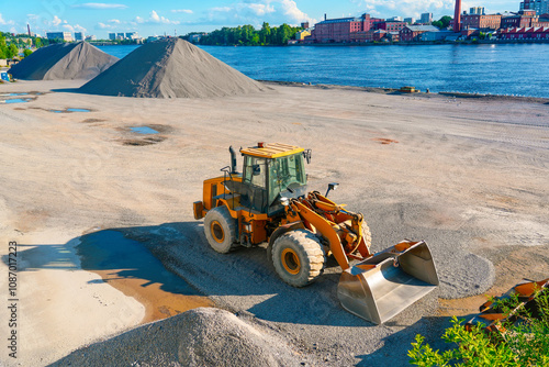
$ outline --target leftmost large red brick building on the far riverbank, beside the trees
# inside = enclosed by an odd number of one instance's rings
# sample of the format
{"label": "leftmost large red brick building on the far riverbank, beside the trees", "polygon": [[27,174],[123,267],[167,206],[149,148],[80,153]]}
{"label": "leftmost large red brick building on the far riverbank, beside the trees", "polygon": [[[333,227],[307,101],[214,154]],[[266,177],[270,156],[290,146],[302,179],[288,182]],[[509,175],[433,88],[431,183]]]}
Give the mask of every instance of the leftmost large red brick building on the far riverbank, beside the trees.
{"label": "leftmost large red brick building on the far riverbank, beside the trees", "polygon": [[354,33],[368,31],[370,31],[369,14],[362,14],[360,18],[325,19],[315,24],[311,38],[316,43],[351,42]]}

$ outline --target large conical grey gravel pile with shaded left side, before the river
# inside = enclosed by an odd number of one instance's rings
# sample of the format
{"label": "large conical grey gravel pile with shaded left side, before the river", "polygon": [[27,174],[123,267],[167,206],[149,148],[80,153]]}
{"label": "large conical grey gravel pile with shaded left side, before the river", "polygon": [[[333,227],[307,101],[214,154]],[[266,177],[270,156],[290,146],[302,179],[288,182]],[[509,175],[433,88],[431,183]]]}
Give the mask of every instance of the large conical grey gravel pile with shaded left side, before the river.
{"label": "large conical grey gravel pile with shaded left side, before the river", "polygon": [[181,38],[148,43],[80,88],[90,94],[203,98],[269,89]]}

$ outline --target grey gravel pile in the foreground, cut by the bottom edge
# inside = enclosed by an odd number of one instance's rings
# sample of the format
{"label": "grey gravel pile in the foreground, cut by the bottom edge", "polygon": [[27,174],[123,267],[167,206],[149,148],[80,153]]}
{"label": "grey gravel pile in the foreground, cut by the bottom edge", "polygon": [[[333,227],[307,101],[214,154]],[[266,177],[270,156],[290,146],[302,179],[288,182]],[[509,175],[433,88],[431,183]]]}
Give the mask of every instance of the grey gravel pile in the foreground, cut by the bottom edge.
{"label": "grey gravel pile in the foreground, cut by the bottom edge", "polygon": [[201,308],[72,352],[51,366],[300,366],[281,340]]}

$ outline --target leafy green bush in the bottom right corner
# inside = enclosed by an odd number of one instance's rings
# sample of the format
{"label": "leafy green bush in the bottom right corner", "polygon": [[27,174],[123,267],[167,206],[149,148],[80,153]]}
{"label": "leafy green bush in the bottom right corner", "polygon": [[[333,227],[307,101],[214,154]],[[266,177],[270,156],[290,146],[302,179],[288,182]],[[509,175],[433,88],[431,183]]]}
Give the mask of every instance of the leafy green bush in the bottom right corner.
{"label": "leafy green bush in the bottom right corner", "polygon": [[[515,314],[522,320],[505,322],[502,333],[486,332],[482,325],[467,331],[456,316],[441,338],[453,348],[434,351],[424,344],[425,337],[416,335],[408,356],[417,366],[549,366],[549,292],[538,292],[535,316],[524,308]],[[496,308],[508,314],[518,304],[518,298],[495,300]]]}

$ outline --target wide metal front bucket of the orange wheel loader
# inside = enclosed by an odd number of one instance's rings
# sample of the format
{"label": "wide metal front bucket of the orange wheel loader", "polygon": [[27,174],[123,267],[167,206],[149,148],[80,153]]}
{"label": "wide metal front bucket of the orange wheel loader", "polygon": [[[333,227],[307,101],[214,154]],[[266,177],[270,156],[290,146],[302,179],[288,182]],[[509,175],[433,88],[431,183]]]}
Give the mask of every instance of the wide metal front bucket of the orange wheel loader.
{"label": "wide metal front bucket of the orange wheel loader", "polygon": [[337,297],[350,313],[381,324],[436,286],[438,276],[427,244],[402,242],[345,270]]}

